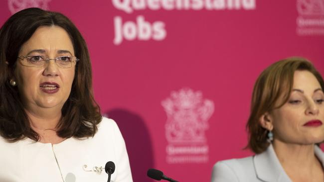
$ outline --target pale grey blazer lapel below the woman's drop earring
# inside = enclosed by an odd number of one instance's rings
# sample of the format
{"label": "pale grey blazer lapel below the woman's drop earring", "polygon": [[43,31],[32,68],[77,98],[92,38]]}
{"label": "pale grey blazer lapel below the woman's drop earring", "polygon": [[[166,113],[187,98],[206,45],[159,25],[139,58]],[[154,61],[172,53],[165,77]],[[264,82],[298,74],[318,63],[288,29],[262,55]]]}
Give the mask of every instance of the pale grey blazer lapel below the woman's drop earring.
{"label": "pale grey blazer lapel below the woman's drop earring", "polygon": [[269,145],[268,149],[253,157],[257,177],[264,182],[291,182],[283,167],[281,166],[276,153]]}

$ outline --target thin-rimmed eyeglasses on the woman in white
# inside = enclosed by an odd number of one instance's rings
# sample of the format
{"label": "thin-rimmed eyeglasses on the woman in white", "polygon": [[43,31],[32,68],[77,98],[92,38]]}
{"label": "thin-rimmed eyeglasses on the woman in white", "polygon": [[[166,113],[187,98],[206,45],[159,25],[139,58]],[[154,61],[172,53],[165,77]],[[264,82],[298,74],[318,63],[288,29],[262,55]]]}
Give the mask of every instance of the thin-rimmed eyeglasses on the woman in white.
{"label": "thin-rimmed eyeglasses on the woman in white", "polygon": [[42,67],[49,60],[55,60],[55,63],[60,68],[71,68],[72,63],[79,61],[79,59],[75,56],[59,56],[54,59],[50,59],[44,56],[20,56],[18,57],[21,60],[21,64],[23,66],[29,67]]}

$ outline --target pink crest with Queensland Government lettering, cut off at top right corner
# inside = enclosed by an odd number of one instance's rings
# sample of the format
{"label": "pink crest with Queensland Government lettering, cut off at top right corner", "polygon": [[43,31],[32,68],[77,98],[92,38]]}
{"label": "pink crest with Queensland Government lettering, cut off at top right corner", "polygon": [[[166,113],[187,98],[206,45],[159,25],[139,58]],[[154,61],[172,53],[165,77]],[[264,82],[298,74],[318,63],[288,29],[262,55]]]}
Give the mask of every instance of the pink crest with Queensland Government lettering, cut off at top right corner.
{"label": "pink crest with Queensland Government lettering, cut off at top right corner", "polygon": [[324,0],[297,0],[297,34],[324,35]]}

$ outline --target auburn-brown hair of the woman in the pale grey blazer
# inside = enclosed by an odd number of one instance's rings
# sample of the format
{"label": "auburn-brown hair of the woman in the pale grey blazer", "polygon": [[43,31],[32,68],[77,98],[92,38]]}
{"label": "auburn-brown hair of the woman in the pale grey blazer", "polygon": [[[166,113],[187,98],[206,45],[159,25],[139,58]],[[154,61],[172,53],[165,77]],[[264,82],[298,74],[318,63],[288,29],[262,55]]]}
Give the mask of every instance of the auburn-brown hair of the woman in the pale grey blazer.
{"label": "auburn-brown hair of the woman in the pale grey blazer", "polygon": [[[268,131],[260,125],[259,119],[266,112],[280,108],[288,101],[296,70],[311,72],[319,81],[321,88],[324,88],[321,74],[304,58],[292,57],[281,60],[264,70],[254,85],[250,117],[246,124],[249,134],[247,147],[256,154],[265,151],[269,146]],[[278,103],[279,98],[283,98],[281,103]]]}

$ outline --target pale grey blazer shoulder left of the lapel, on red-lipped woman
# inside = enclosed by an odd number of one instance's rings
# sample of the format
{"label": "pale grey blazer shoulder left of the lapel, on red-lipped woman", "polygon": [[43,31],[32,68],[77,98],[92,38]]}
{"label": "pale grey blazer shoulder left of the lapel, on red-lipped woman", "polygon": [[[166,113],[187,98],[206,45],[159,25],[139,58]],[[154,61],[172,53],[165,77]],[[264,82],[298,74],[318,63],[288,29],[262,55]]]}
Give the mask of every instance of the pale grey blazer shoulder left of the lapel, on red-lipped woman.
{"label": "pale grey blazer shoulder left of the lapel, on red-lipped woman", "polygon": [[[211,182],[244,182],[254,176],[253,157],[217,162],[212,171]],[[246,180],[244,180],[246,179]]]}

